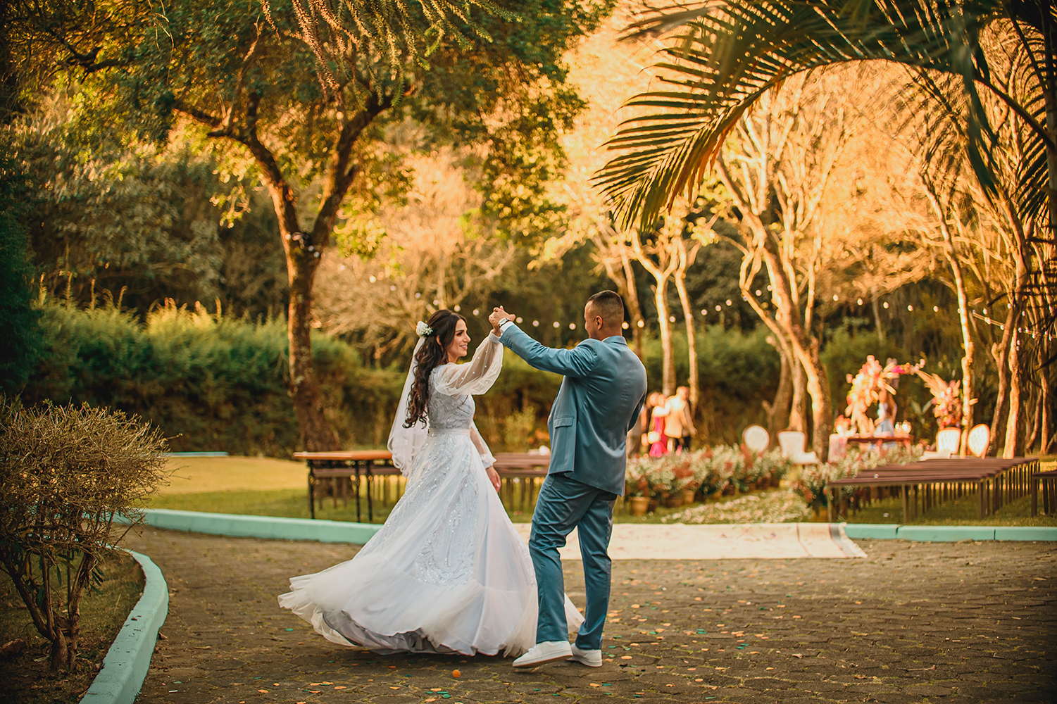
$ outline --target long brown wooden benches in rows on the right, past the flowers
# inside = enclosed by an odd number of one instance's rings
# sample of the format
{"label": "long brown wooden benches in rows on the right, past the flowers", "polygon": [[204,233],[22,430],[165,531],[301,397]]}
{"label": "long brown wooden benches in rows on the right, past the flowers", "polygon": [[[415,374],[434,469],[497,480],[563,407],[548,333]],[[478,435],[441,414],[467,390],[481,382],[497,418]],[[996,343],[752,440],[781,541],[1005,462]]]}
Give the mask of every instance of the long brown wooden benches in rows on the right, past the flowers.
{"label": "long brown wooden benches in rows on the right, past the flowers", "polygon": [[903,520],[907,521],[917,515],[919,497],[924,513],[948,498],[962,496],[971,486],[978,496],[979,516],[984,518],[1005,503],[1026,495],[1032,473],[1038,467],[1038,458],[1023,457],[957,457],[875,467],[857,477],[827,484],[830,521],[836,519],[834,489],[843,487],[898,489],[903,499]]}

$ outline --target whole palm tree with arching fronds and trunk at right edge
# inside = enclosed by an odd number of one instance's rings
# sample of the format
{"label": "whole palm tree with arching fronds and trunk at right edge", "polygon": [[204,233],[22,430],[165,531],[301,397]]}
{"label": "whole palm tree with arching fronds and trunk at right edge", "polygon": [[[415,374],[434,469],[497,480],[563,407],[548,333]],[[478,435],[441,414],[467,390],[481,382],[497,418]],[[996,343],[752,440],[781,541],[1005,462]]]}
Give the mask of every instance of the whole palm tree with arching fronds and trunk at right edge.
{"label": "whole palm tree with arching fronds and trunk at right edge", "polygon": [[[1010,94],[991,80],[981,34],[991,27],[1016,36],[1023,90]],[[937,4],[930,0],[736,0],[672,3],[633,25],[633,38],[678,31],[659,64],[665,90],[629,103],[652,109],[632,117],[610,145],[622,153],[600,183],[629,220],[649,223],[684,192],[693,193],[741,118],[774,89],[798,74],[876,61],[919,78],[924,99],[907,101],[947,111],[966,136],[966,153],[988,198],[995,198],[989,145],[994,132],[983,108],[986,92],[1024,127],[1030,159],[1009,191],[1022,217],[1037,223],[1042,243],[1032,260],[1034,294],[1050,300],[1057,283],[1057,7],[1051,0]],[[957,81],[960,97],[934,90],[935,78]],[[1045,331],[1057,313],[1047,311]]]}

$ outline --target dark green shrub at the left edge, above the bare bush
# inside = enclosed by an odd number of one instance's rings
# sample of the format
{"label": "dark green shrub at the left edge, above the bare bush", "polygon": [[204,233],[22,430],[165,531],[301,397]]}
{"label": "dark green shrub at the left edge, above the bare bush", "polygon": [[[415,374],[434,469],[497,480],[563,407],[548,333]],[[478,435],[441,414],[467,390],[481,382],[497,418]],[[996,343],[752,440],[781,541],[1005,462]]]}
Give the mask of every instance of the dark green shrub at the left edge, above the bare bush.
{"label": "dark green shrub at the left edge, above the bare bush", "polygon": [[18,393],[40,355],[42,337],[33,305],[36,274],[22,226],[24,209],[16,193],[24,192],[25,178],[16,162],[0,153],[0,393]]}

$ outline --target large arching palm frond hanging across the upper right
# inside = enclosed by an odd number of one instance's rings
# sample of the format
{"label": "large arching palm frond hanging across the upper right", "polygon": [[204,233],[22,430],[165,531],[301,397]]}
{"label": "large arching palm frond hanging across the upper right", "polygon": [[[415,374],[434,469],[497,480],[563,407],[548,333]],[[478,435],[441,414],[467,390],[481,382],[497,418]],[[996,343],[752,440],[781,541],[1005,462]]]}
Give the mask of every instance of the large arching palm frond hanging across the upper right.
{"label": "large arching palm frond hanging across the upper right", "polygon": [[[928,0],[734,0],[707,3],[673,37],[657,64],[671,90],[635,96],[634,109],[609,142],[619,154],[596,175],[624,225],[653,220],[681,192],[692,194],[740,117],[792,75],[883,60],[960,81],[960,118],[970,163],[989,180],[994,140],[978,93],[988,67],[979,34],[1003,5]],[[672,15],[683,18],[691,8]],[[663,15],[664,13],[660,13]],[[665,19],[638,31],[667,26]],[[642,22],[645,22],[643,20]]]}

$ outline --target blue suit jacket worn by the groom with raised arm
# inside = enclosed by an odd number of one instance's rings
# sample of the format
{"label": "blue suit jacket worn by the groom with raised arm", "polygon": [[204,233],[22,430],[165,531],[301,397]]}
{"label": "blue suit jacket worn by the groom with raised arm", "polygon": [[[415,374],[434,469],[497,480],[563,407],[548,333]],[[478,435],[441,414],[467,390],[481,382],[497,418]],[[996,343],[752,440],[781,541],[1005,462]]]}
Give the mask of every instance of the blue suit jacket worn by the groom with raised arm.
{"label": "blue suit jacket worn by the groom with raised arm", "polygon": [[500,340],[536,369],[563,375],[551,407],[551,474],[624,495],[628,431],[646,402],[646,368],[623,336],[553,350],[515,325]]}

